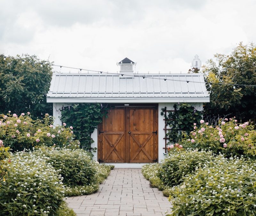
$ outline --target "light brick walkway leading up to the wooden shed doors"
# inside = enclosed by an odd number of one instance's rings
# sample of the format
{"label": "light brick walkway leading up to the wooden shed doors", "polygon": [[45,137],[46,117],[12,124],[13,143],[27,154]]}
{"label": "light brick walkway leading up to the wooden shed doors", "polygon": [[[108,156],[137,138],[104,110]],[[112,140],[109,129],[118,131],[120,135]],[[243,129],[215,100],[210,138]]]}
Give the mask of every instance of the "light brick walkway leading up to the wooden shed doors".
{"label": "light brick walkway leading up to the wooden shed doors", "polygon": [[162,191],[150,188],[140,169],[114,169],[97,193],[68,197],[77,216],[163,216],[171,204]]}

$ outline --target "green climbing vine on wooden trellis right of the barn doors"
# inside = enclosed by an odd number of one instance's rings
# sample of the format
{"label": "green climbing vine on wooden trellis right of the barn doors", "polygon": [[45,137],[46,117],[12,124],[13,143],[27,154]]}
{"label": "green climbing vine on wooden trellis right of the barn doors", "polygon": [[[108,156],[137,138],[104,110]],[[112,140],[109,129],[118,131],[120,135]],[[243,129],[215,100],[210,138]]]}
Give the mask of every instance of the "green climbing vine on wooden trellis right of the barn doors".
{"label": "green climbing vine on wooden trellis right of the barn doors", "polygon": [[178,109],[177,104],[174,104],[174,112],[165,114],[165,108],[162,108],[161,116],[164,116],[166,124],[170,130],[166,132],[170,143],[175,143],[181,140],[182,132],[189,134],[194,127],[194,123],[199,123],[202,119],[202,112],[196,110],[192,105],[182,103]]}

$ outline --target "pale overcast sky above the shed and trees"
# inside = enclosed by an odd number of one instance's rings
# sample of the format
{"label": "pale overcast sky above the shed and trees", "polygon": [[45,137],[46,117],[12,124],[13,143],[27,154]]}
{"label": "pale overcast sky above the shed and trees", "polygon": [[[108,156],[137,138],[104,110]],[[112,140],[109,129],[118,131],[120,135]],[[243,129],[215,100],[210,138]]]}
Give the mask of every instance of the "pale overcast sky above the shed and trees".
{"label": "pale overcast sky above the shed and trees", "polygon": [[[116,72],[185,73],[195,54],[255,42],[255,0],[0,0],[0,54]],[[55,68],[57,69],[57,68]],[[69,69],[62,68],[62,72]]]}

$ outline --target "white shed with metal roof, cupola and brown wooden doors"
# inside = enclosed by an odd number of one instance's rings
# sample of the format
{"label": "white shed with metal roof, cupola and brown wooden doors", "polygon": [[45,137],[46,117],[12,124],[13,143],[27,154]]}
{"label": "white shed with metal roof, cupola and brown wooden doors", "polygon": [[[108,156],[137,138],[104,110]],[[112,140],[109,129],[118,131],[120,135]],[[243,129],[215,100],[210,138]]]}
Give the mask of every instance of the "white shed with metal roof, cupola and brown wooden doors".
{"label": "white shed with metal roof, cupola and brown wooden doors", "polygon": [[55,125],[60,109],[73,103],[113,105],[108,118],[92,134],[94,159],[116,167],[141,167],[165,153],[161,108],[191,103],[197,110],[209,102],[204,77],[196,74],[134,74],[134,62],[119,62],[120,73],[54,73],[47,102],[53,103]]}

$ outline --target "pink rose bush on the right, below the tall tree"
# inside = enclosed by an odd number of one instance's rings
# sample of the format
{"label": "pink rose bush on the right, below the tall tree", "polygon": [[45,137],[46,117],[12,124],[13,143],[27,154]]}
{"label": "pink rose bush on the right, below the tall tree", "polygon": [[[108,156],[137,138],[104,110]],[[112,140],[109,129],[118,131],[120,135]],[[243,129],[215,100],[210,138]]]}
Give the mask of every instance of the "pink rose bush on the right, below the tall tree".
{"label": "pink rose bush on the right, below the tall tree", "polygon": [[225,118],[219,127],[212,127],[201,120],[201,124],[194,126],[190,136],[180,142],[185,148],[211,149],[212,152],[221,152],[226,155],[248,156],[256,155],[256,130],[249,122],[237,123],[235,118],[229,121]]}

